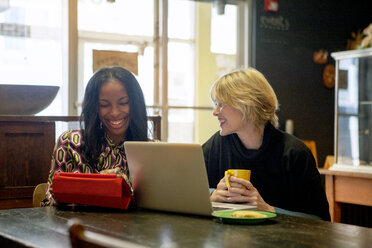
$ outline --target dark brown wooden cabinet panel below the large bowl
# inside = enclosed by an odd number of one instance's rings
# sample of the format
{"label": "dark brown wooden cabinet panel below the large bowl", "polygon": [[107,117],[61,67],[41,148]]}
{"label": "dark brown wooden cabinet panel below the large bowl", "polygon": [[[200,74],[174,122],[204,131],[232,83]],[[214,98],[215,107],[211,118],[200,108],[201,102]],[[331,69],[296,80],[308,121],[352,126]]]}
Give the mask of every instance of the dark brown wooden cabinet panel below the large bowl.
{"label": "dark brown wooden cabinet panel below the large bowl", "polygon": [[0,209],[32,207],[34,187],[46,182],[54,122],[0,122]]}

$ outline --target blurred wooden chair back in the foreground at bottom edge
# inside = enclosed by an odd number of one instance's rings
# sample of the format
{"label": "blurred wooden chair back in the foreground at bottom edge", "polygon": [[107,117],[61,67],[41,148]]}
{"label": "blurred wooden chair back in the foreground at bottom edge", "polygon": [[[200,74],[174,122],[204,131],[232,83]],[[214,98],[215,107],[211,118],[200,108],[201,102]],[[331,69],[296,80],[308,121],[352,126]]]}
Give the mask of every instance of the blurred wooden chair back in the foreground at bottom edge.
{"label": "blurred wooden chair back in the foreground at bottom edge", "polygon": [[79,219],[68,221],[68,231],[72,248],[144,248],[147,246],[135,244],[102,233],[85,230]]}

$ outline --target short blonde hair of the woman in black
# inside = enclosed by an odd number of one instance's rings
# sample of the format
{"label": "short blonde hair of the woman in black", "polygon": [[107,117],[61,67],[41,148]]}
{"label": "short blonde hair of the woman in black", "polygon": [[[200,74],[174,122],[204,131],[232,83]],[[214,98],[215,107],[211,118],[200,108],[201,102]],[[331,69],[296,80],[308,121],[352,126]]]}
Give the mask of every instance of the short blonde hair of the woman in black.
{"label": "short blonde hair of the woman in black", "polygon": [[267,121],[278,127],[278,99],[264,75],[253,68],[228,73],[211,88],[211,99],[240,110],[243,121],[263,128]]}

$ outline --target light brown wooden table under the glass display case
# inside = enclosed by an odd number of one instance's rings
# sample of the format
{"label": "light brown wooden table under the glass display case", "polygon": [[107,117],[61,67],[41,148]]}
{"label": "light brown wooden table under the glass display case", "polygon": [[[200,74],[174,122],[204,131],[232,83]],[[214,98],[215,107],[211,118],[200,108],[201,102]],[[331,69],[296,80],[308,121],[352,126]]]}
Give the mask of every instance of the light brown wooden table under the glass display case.
{"label": "light brown wooden table under the glass display case", "polygon": [[372,206],[372,174],[319,169],[325,188],[331,221],[341,222],[341,203]]}

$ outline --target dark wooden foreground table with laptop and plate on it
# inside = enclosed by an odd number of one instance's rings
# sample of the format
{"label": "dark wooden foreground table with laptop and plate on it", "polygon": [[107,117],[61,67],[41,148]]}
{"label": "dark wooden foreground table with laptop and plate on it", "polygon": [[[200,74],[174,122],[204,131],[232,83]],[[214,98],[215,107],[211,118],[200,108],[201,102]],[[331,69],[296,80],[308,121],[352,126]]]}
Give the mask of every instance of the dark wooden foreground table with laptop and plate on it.
{"label": "dark wooden foreground table with laptop and plate on it", "polygon": [[278,215],[256,225],[145,210],[20,208],[0,210],[1,247],[70,247],[67,221],[149,247],[370,247],[372,229]]}

